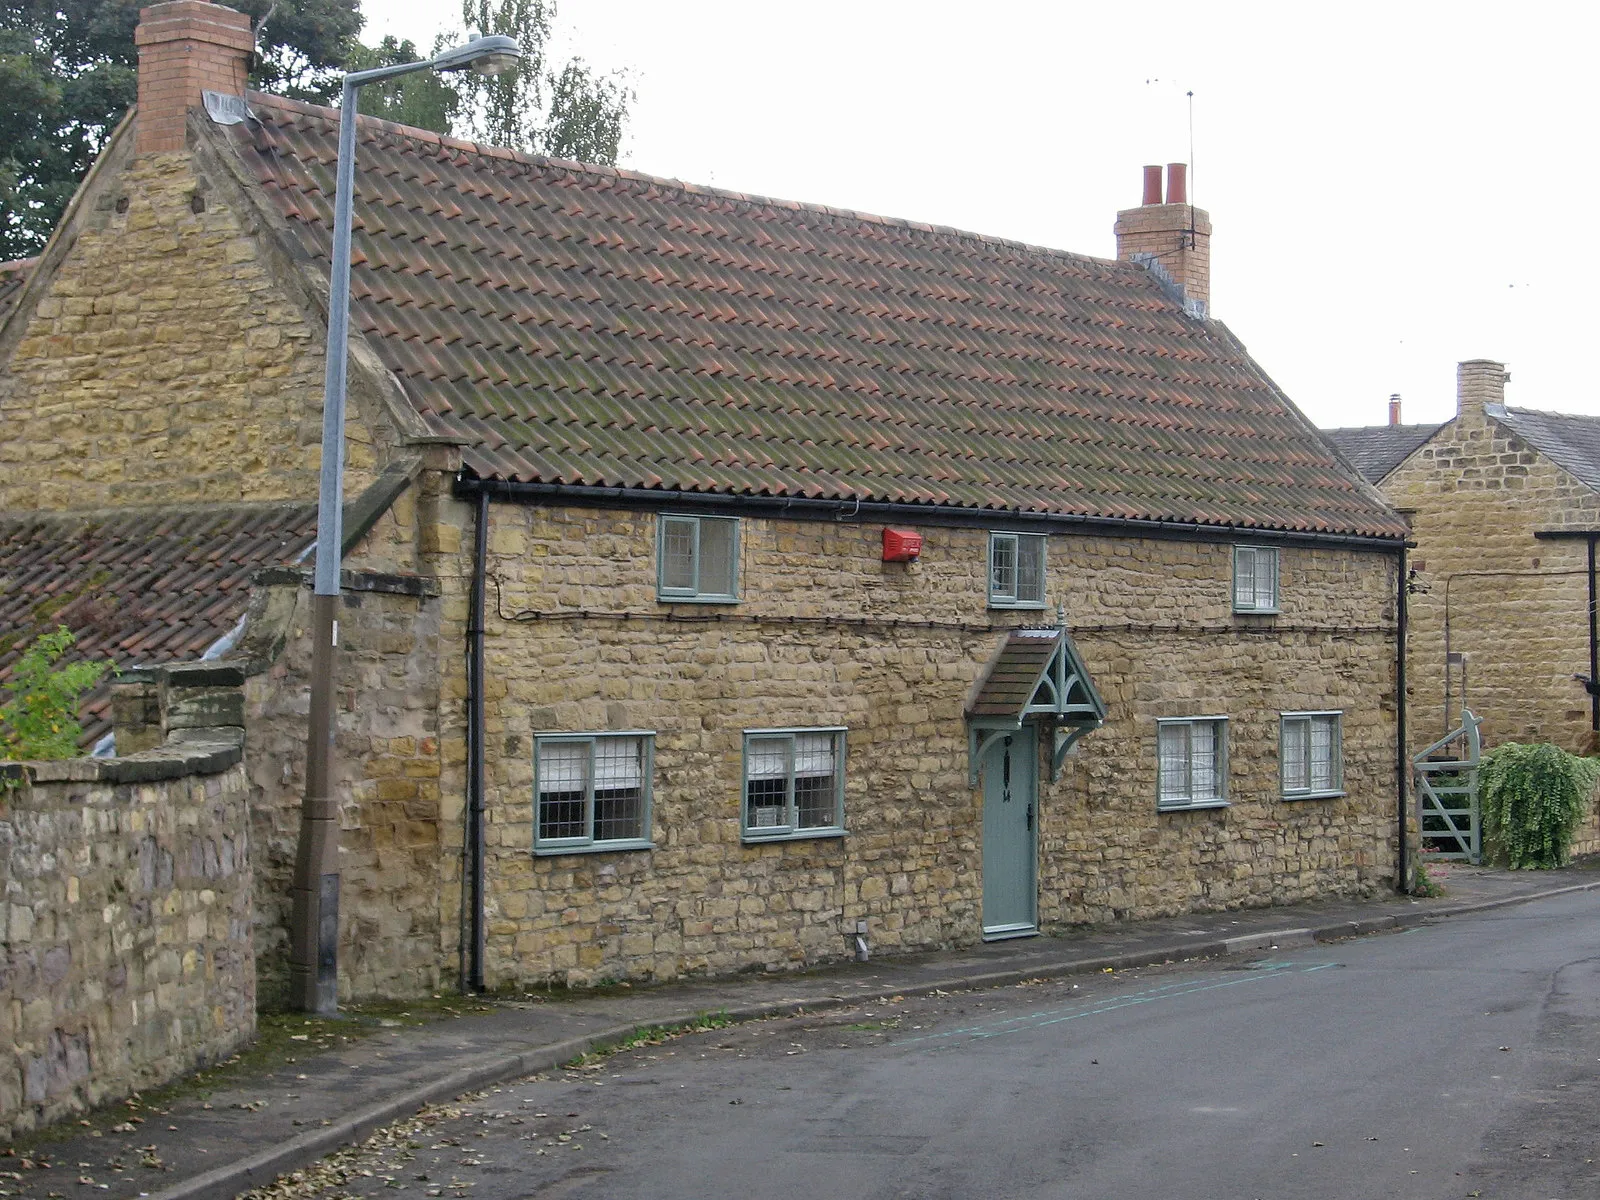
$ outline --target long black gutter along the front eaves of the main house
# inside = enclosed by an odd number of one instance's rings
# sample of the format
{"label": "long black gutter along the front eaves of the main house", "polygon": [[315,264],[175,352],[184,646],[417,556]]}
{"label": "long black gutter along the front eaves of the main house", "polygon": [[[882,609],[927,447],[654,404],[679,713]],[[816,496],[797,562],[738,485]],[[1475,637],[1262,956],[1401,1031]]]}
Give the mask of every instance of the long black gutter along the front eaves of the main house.
{"label": "long black gutter along the front eaves of the main house", "polygon": [[720,515],[760,515],[792,520],[906,522],[955,528],[992,530],[1030,523],[1054,533],[1088,533],[1165,541],[1259,541],[1280,546],[1342,546],[1379,554],[1400,554],[1405,536],[1376,538],[1354,533],[1258,530],[1245,525],[1195,525],[1189,522],[1139,520],[1130,517],[1078,517],[1061,512],[1021,512],[1016,509],[962,509],[939,504],[896,504],[885,501],[811,499],[806,496],[731,496],[658,488],[594,488],[566,483],[515,483],[456,475],[461,498],[490,494],[520,504],[582,504],[595,509],[651,509],[706,512]]}

